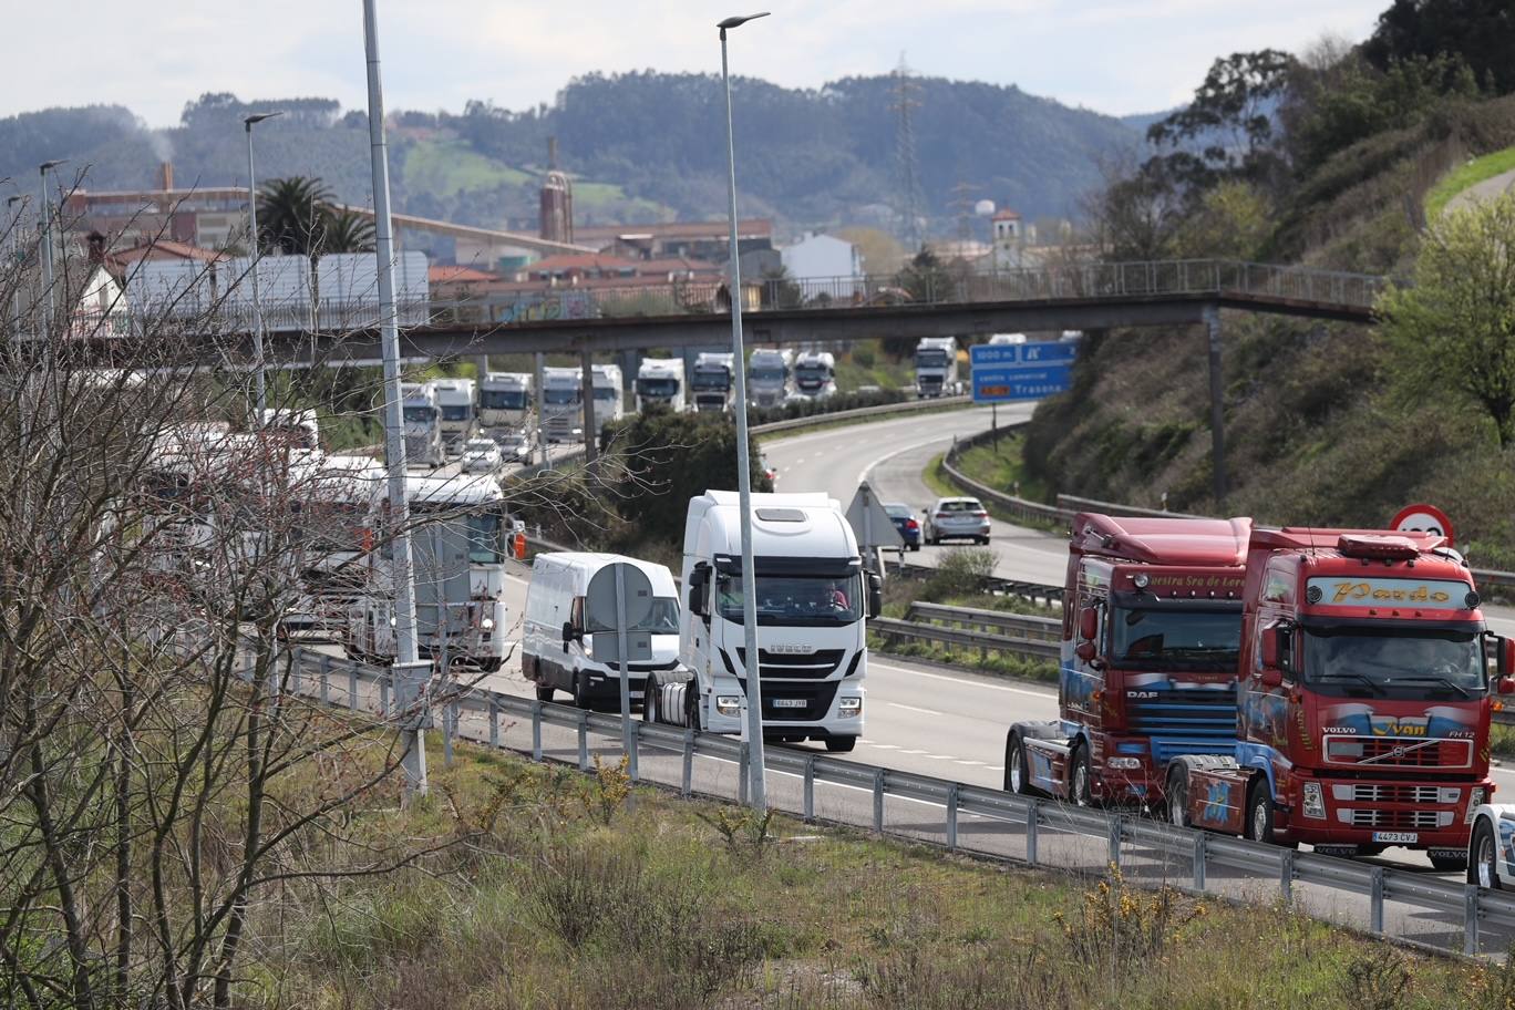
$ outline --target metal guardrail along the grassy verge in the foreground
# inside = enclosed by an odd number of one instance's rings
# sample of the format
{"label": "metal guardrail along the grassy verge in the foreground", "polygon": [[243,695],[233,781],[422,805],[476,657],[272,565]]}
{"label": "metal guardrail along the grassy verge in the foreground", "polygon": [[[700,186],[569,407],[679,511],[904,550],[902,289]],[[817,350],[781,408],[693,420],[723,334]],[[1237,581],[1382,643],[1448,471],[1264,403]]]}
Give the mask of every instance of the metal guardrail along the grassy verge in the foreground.
{"label": "metal guardrail along the grassy verge in the foreground", "polygon": [[[370,684],[379,690],[379,713],[392,713],[391,703],[395,695],[389,668],[367,666],[305,650],[295,650],[292,668],[295,675],[291,678],[291,687],[298,694],[351,710],[373,710],[374,706],[367,704],[361,690],[361,684]],[[633,780],[642,780],[641,757],[651,753],[677,756],[679,774],[659,781],[676,786],[683,796],[695,792],[697,757],[738,765],[742,774],[736,775],[735,781],[729,775],[717,777],[717,792],[703,789],[701,793],[721,800],[744,798],[747,747],[733,737],[633,722],[630,739],[623,740],[620,716],[479,687],[444,692],[438,697],[438,707],[445,748],[450,748],[456,737],[506,748],[508,730],[512,728],[506,725],[506,718],[514,718],[529,725],[530,745],[526,747],[523,742],[511,750],[529,753],[533,760],[547,759],[544,728],[556,727],[573,733],[577,743],[574,763],[583,771],[591,768],[589,737],[594,734],[608,737],[627,754]],[[482,733],[465,725],[464,715],[471,715],[476,721],[482,718]],[[1127,812],[1070,807],[1051,800],[782,747],[767,751],[767,769],[776,777],[792,775],[800,780],[798,803],[783,806],[785,796],[789,795],[785,790],[770,789],[768,795],[779,798],[776,807],[798,813],[807,822],[818,818],[815,801],[818,784],[850,787],[871,796],[870,813],[862,815],[856,809],[845,812],[838,807],[829,810],[829,819],[836,821],[839,816],[842,824],[883,833],[889,827],[888,801],[912,800],[941,812],[938,816],[942,840],[938,843],[948,851],[970,851],[1030,866],[1053,865],[1092,874],[1103,874],[1114,866],[1127,869],[1127,880],[1133,883],[1177,884],[1195,893],[1220,892],[1248,902],[1271,904],[1276,899],[1273,895],[1285,901],[1300,901],[1301,886],[1330,889],[1365,902],[1364,916],[1356,915],[1356,909],[1329,902],[1323,912],[1329,912],[1333,921],[1350,918],[1347,924],[1356,928],[1389,939],[1417,942],[1409,936],[1410,925],[1424,930],[1427,916],[1441,916],[1438,925],[1448,934],[1448,940],[1460,933],[1462,952],[1467,955],[1483,951],[1480,937],[1485,930],[1498,928],[1506,934],[1515,931],[1515,895],[1482,890],[1474,884],[1457,884],[1409,869],[1295,853],[1194,828],[1179,828]],[[921,816],[924,815],[920,807],[912,807],[912,824]],[[965,818],[973,819],[973,830],[967,833],[962,831]],[[912,837],[918,837],[920,828],[914,830],[917,834]],[[1103,859],[1073,866],[1067,862],[1050,862],[1048,848],[1070,837],[1085,845],[1092,840],[1101,849]],[[932,842],[935,837],[924,840]],[[1014,842],[1014,849],[1006,849],[1001,842]],[[1186,866],[1188,872],[1183,875],[1170,872],[1176,863]],[[1142,868],[1162,872],[1144,877],[1138,872]],[[1241,886],[1226,889],[1224,883],[1218,883],[1223,877],[1241,877]],[[1277,889],[1273,895],[1270,895],[1271,887]],[[1386,916],[1391,906],[1400,912],[1392,919]]]}

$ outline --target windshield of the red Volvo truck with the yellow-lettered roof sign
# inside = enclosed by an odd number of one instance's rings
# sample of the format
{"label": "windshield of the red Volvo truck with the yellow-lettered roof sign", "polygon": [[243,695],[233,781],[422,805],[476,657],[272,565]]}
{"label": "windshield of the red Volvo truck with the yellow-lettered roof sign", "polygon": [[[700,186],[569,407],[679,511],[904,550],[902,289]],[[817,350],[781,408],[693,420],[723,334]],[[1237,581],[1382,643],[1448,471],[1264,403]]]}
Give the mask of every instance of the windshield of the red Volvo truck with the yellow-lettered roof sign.
{"label": "windshield of the red Volvo truck with the yellow-lettered roof sign", "polygon": [[1304,625],[1304,683],[1332,695],[1479,695],[1485,690],[1477,630]]}

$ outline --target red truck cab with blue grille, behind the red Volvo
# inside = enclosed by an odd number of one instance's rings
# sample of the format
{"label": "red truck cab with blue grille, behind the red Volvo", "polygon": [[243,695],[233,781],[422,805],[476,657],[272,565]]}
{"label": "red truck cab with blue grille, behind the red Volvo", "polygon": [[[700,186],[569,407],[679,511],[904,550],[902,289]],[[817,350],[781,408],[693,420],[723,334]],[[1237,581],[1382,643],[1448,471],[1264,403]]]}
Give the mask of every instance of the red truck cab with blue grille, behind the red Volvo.
{"label": "red truck cab with blue grille, behind the red Volvo", "polygon": [[1250,536],[1251,519],[1074,518],[1060,718],[1011,727],[1006,790],[1160,809],[1174,760],[1235,763]]}

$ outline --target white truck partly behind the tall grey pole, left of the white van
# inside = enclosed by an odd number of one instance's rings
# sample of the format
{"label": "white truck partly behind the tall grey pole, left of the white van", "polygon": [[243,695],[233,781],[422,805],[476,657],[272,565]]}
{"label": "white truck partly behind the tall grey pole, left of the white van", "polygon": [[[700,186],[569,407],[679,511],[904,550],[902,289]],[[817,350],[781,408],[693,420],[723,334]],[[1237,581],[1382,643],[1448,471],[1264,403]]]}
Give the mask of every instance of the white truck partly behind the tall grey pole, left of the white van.
{"label": "white truck partly behind the tall grey pole, left of the white van", "polygon": [[[406,477],[411,553],[415,565],[415,622],[421,659],[479,666],[504,665],[504,563],[511,524],[504,492],[491,477]],[[394,530],[386,482],[379,482],[365,515],[362,597],[348,609],[342,642],[348,657],[389,663],[395,633]]]}

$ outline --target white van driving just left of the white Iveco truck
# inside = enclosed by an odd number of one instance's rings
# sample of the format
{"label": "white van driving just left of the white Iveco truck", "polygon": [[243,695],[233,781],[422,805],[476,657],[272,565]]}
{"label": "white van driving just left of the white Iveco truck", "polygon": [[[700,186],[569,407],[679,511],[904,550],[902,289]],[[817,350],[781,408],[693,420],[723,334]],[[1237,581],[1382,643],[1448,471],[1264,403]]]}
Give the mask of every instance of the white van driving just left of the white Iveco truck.
{"label": "white van driving just left of the white Iveco truck", "polygon": [[624,562],[645,572],[653,586],[653,609],[633,631],[650,631],[650,662],[630,665],[632,701],[641,703],[647,675],[679,666],[679,591],[662,565],[620,554],[562,551],[538,554],[526,591],[526,627],[521,630],[521,672],[536,683],[536,697],[551,701],[556,690],[573,695],[580,709],[620,704],[617,663],[595,662],[591,636],[615,628],[585,627],[583,597],[589,580],[606,565]]}

